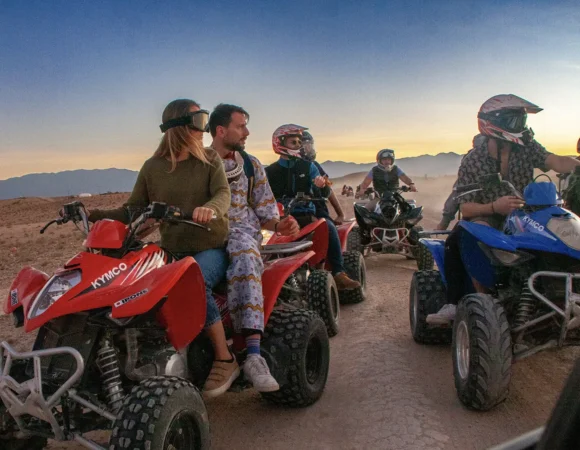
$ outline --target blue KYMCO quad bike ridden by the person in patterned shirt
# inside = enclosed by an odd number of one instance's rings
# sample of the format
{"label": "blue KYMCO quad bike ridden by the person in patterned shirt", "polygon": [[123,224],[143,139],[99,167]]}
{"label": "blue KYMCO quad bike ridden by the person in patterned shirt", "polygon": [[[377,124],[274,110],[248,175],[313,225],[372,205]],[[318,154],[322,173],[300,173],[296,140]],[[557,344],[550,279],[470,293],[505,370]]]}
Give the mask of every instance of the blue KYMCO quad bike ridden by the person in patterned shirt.
{"label": "blue KYMCO quad bike ridden by the person in patterned shirt", "polygon": [[[522,196],[492,174],[456,191],[460,197],[501,185],[523,198],[525,206],[507,217],[503,231],[459,222],[468,276],[453,326],[426,322],[446,303],[444,240],[421,239],[441,271],[415,272],[410,289],[413,338],[421,344],[451,342],[458,397],[481,411],[507,398],[512,362],[580,344],[580,219],[561,206],[551,180],[534,180]],[[471,279],[486,293],[476,292]]]}

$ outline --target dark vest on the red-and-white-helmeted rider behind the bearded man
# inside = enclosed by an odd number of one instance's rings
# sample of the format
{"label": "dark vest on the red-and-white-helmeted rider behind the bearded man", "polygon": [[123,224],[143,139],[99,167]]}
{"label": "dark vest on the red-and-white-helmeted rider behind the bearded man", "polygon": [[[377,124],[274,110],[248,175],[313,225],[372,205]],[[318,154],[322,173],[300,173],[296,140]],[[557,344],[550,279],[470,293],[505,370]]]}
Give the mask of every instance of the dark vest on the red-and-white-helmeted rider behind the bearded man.
{"label": "dark vest on the red-and-white-helmeted rider behind the bearded man", "polygon": [[266,176],[272,188],[274,197],[295,197],[298,192],[312,195],[312,180],[310,179],[310,162],[301,159],[288,168],[275,162],[266,167]]}

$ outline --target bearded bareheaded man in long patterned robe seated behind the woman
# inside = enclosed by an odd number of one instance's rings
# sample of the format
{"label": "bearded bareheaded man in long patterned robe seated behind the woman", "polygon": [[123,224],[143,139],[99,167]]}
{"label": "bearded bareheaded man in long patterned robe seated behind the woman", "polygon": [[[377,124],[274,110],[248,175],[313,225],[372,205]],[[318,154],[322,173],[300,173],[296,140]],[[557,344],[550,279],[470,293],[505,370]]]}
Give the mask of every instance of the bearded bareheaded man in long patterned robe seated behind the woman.
{"label": "bearded bareheaded man in long patterned robe seated behind the woman", "polygon": [[230,234],[227,251],[228,307],[237,333],[246,339],[244,375],[259,392],[279,389],[260,354],[264,331],[264,296],[260,256],[261,230],[282,235],[299,232],[296,221],[280,220],[276,200],[260,161],[244,151],[250,115],[241,107],[220,104],[209,118],[211,147],[221,156],[230,183],[232,203],[228,211]]}

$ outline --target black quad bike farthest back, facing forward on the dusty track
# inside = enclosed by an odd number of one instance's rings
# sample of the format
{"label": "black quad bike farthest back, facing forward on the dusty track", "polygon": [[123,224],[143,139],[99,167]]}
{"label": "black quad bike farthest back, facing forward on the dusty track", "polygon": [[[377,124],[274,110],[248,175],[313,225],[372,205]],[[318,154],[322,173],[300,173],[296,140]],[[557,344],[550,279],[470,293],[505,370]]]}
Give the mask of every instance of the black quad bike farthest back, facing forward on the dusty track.
{"label": "black quad bike farthest back, facing forward on the dusty track", "polygon": [[403,186],[382,197],[376,193],[375,200],[354,204],[358,227],[348,236],[347,249],[364,256],[371,252],[403,255],[416,259],[419,270],[432,270],[433,257],[419,242],[423,227],[417,224],[423,219],[423,207],[405,199],[403,192],[409,188]]}

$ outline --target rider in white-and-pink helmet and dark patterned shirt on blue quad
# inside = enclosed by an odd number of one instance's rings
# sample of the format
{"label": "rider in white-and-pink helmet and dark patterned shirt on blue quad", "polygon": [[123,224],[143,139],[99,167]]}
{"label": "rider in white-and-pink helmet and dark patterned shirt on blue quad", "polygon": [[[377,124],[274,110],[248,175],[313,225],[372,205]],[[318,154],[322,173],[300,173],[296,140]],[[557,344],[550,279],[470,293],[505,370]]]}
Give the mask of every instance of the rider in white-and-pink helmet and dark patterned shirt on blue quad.
{"label": "rider in white-and-pink helmet and dark patterned shirt on blue quad", "polygon": [[[457,185],[477,183],[481,175],[501,173],[522,192],[533,181],[534,169],[569,173],[580,161],[548,152],[536,140],[526,124],[528,114],[542,108],[512,94],[502,94],[485,101],[477,115],[479,136],[477,145],[463,158],[459,167]],[[524,205],[504,185],[495,189],[474,192],[459,199],[465,220],[502,229],[505,218]],[[455,318],[456,305],[464,294],[465,268],[459,250],[460,228],[454,228],[445,242],[445,277],[447,304],[436,314],[427,316],[427,323],[445,325]],[[482,287],[474,281],[477,291]]]}

